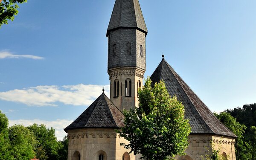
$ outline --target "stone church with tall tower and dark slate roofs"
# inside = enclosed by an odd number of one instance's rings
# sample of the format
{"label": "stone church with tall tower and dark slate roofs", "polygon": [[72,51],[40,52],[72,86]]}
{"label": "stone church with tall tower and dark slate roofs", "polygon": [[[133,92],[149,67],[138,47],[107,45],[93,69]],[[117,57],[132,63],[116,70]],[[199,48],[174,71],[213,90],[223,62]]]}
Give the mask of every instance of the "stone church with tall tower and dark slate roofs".
{"label": "stone church with tall tower and dark slate roofs", "polygon": [[[146,70],[145,37],[148,33],[138,0],[116,0],[109,22],[108,74],[110,99],[103,93],[64,130],[68,134],[68,160],[139,160],[120,143],[127,140],[116,133],[124,125],[124,109],[138,107],[137,90]],[[228,160],[236,160],[236,135],[227,129],[163,59],[151,80],[163,80],[171,96],[185,108],[192,128],[186,155],[177,160],[202,160],[213,148]],[[152,65],[152,64],[151,64]],[[212,147],[211,143],[214,145]]]}

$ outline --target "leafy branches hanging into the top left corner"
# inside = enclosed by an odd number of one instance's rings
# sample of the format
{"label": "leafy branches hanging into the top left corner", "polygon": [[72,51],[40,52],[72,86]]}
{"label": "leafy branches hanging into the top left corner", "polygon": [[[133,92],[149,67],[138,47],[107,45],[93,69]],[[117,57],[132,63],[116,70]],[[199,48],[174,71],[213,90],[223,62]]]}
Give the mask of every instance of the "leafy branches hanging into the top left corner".
{"label": "leafy branches hanging into the top left corner", "polygon": [[26,0],[0,0],[0,27],[8,24],[8,20],[14,20],[14,15],[18,14],[17,3],[24,3]]}

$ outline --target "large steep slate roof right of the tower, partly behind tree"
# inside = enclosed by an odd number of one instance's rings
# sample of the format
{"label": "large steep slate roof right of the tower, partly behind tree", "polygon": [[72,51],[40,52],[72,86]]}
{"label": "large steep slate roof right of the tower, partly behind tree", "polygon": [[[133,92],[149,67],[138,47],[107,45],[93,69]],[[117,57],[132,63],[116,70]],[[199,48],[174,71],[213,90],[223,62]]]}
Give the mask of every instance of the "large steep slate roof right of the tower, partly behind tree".
{"label": "large steep slate roof right of the tower, partly behind tree", "polygon": [[191,134],[216,134],[236,137],[207,108],[204,102],[190,89],[163,58],[150,77],[153,83],[163,80],[171,96],[176,95],[185,108],[185,118],[189,119]]}

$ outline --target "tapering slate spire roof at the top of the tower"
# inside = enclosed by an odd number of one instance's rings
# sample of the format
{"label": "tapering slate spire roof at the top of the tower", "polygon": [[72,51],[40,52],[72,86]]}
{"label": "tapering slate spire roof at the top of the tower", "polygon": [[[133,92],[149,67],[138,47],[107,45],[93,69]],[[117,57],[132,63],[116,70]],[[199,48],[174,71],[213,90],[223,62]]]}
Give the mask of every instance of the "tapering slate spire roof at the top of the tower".
{"label": "tapering slate spire roof at the top of the tower", "polygon": [[137,28],[147,34],[148,30],[138,0],[116,0],[108,25],[107,36],[118,28]]}

